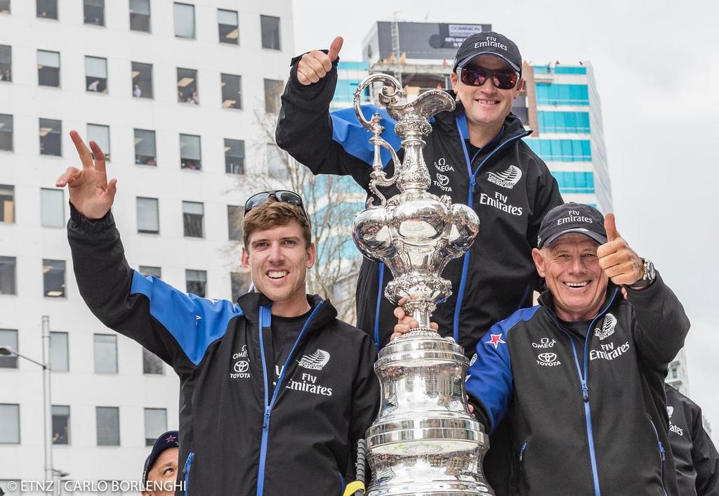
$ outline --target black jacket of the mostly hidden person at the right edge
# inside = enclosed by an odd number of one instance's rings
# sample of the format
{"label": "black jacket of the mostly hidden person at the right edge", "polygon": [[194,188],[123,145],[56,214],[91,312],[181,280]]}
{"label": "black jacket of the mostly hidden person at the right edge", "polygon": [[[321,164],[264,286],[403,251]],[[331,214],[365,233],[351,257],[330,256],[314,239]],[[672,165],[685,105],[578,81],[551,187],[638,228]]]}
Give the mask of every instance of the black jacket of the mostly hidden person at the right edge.
{"label": "black jacket of the mostly hidden person at the right edge", "polygon": [[702,409],[669,384],[667,414],[681,496],[719,496],[719,454],[702,425]]}

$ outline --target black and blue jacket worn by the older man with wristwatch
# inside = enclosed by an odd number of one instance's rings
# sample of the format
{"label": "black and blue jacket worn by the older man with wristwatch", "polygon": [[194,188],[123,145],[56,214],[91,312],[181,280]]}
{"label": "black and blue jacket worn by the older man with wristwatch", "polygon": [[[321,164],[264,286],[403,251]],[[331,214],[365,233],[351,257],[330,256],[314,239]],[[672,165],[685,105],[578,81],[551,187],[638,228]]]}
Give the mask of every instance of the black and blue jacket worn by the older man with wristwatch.
{"label": "black and blue jacket worn by the older man with wristwatch", "polygon": [[515,494],[678,494],[664,377],[689,320],[659,276],[628,292],[610,284],[585,346],[549,292],[477,344],[467,392],[491,429],[510,420]]}

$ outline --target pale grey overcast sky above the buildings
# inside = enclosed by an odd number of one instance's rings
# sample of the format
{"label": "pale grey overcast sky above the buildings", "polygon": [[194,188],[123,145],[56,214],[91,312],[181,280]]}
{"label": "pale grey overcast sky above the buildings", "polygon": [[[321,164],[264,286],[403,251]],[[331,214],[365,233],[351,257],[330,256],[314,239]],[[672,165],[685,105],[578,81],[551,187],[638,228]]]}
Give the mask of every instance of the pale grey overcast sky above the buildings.
{"label": "pale grey overcast sky above the buildings", "polygon": [[719,440],[719,35],[706,1],[293,2],[295,50],[361,60],[373,22],[492,24],[524,60],[590,60],[602,100],[619,233],[654,261],[692,320],[690,396]]}

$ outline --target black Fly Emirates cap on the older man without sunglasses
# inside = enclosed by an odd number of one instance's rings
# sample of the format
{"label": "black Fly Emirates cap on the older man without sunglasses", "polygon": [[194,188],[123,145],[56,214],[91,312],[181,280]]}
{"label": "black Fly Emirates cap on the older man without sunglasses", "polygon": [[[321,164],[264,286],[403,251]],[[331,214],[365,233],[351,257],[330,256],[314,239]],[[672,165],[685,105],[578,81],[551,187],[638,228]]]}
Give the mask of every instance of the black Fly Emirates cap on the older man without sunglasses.
{"label": "black Fly Emirates cap on the older man without sunglasses", "polygon": [[569,233],[589,236],[600,245],[607,242],[602,213],[591,205],[569,202],[554,207],[544,216],[539,227],[537,246],[549,246],[559,236]]}

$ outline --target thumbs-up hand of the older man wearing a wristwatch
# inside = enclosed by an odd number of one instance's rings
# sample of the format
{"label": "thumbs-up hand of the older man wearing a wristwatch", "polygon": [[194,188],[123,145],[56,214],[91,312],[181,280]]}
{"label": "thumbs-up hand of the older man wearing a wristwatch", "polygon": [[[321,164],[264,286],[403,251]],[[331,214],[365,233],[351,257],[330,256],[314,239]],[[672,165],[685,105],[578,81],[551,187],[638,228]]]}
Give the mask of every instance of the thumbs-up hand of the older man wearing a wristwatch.
{"label": "thumbs-up hand of the older man wearing a wristwatch", "polygon": [[614,214],[604,217],[607,242],[597,248],[599,266],[614,284],[634,284],[644,276],[644,262],[619,235]]}

